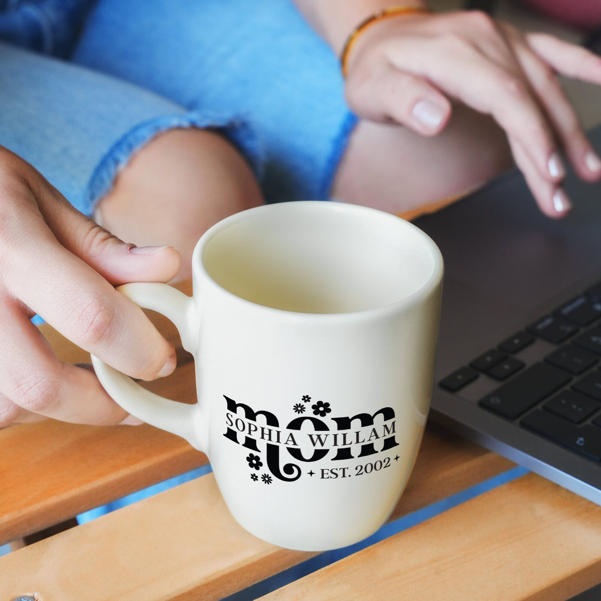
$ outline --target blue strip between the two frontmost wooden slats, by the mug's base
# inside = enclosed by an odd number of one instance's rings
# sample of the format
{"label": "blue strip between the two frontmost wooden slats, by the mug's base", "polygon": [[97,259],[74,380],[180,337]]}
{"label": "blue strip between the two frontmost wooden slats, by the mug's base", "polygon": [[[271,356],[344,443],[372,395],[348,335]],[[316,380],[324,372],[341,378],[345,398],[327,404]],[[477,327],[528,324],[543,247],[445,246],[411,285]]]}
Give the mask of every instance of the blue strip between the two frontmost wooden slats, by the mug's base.
{"label": "blue strip between the two frontmost wooden slats, by the mug's base", "polygon": [[312,557],[310,560],[304,561],[297,566],[293,566],[287,570],[284,570],[284,572],[270,576],[270,578],[266,578],[261,582],[257,582],[257,584],[245,588],[238,593],[224,597],[222,601],[252,601],[257,599],[258,597],[266,595],[267,593],[271,593],[272,591],[290,584],[290,582],[294,582],[303,576],[307,576],[312,572],[316,572],[316,570],[319,570],[322,567],[329,566],[329,564],[332,564],[335,561],[341,560],[348,555],[356,553],[357,551],[361,551],[361,549],[365,549],[366,547],[374,545],[375,543],[379,543],[385,538],[389,538],[394,534],[398,534],[398,532],[402,532],[407,528],[411,528],[411,526],[416,526],[421,522],[425,522],[426,520],[437,516],[443,511],[457,507],[457,505],[461,505],[462,503],[480,496],[489,490],[493,490],[498,486],[507,484],[508,482],[511,482],[511,480],[516,480],[516,478],[520,478],[525,474],[528,474],[528,470],[526,468],[517,467],[510,469],[503,474],[489,478],[489,480],[485,480],[480,484],[476,484],[469,489],[462,490],[462,492],[451,495],[446,499],[442,499],[442,501],[428,505],[427,507],[419,509],[418,511],[413,511],[413,513],[399,517],[392,522],[388,522],[383,525],[382,528],[380,528],[375,534],[372,534],[370,537],[365,538],[365,540],[356,543],[356,545],[350,545],[349,547],[344,547],[343,549],[335,549],[334,551],[326,551],[322,554],[316,555],[316,557]]}

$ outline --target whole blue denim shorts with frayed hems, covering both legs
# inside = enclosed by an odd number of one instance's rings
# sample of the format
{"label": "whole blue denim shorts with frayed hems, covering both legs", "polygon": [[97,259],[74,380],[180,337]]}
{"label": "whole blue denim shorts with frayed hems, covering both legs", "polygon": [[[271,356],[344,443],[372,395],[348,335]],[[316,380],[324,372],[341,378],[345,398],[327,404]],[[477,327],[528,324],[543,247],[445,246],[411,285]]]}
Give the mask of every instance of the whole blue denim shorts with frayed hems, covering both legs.
{"label": "whole blue denim shorts with frayed hems, covering both legs", "polygon": [[69,61],[0,44],[0,144],[87,215],[138,148],[211,127],[266,200],[326,200],[356,118],[289,0],[99,0]]}

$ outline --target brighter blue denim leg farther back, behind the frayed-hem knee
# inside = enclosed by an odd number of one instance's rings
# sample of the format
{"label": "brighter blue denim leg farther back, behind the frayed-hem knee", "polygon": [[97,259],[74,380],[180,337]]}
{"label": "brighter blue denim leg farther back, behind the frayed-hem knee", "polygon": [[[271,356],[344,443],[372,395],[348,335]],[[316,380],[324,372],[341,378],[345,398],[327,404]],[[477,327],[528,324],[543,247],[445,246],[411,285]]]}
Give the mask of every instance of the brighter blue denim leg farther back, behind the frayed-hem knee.
{"label": "brighter blue denim leg farther back, behind the frayed-hem knee", "polygon": [[356,123],[336,56],[291,0],[99,0],[73,61],[242,115],[266,153],[268,201],[326,200]]}

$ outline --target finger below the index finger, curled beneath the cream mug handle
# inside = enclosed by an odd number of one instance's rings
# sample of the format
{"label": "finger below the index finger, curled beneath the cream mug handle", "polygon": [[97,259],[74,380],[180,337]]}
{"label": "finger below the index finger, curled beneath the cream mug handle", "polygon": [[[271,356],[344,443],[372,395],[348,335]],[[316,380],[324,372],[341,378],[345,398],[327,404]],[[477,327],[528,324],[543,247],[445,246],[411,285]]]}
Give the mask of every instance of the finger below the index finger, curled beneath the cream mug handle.
{"label": "finger below the index finger, curled beneath the cream mug handle", "polygon": [[[73,423],[118,424],[127,412],[106,394],[93,373],[56,358],[40,332],[16,305],[4,303],[0,324],[0,392],[21,410],[7,407],[15,421],[29,413]],[[10,415],[13,413],[13,415]]]}

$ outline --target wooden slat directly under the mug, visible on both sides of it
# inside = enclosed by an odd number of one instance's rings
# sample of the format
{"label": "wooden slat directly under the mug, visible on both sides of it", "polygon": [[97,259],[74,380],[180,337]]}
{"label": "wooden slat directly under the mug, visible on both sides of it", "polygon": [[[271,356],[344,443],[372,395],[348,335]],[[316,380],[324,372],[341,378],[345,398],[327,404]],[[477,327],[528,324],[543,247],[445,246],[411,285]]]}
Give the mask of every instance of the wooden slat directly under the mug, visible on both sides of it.
{"label": "wooden slat directly under the mug, visible on both sides of it", "polygon": [[[513,464],[429,426],[400,516]],[[310,557],[264,543],[234,522],[213,475],[0,558],[0,599],[220,599]]]}

